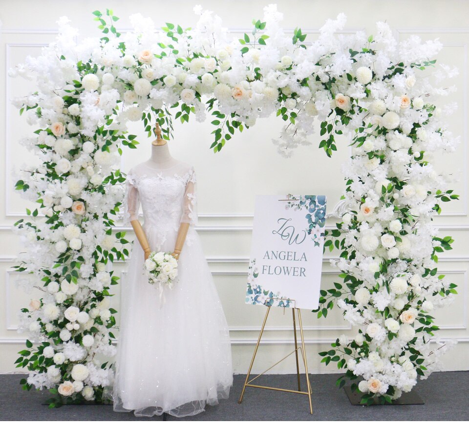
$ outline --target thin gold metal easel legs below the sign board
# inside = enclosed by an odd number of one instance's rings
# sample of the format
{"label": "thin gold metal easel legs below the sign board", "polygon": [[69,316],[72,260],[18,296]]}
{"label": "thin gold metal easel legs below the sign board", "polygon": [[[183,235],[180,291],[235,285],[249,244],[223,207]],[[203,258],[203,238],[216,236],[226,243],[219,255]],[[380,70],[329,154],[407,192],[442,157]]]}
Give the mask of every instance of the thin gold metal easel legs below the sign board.
{"label": "thin gold metal easel legs below the sign board", "polygon": [[[311,390],[311,384],[309,383],[309,373],[308,373],[308,363],[306,361],[306,350],[305,350],[305,347],[304,347],[304,337],[303,337],[303,324],[301,323],[301,312],[299,311],[298,308],[291,308],[292,309],[292,314],[293,314],[293,333],[294,333],[294,336],[295,336],[295,350],[293,350],[292,352],[290,352],[287,356],[285,356],[284,358],[282,358],[280,361],[278,361],[276,364],[272,365],[271,367],[267,368],[267,370],[263,371],[262,373],[258,374],[254,379],[251,379],[249,380],[249,376],[251,374],[251,369],[253,368],[253,364],[254,364],[254,360],[256,358],[256,354],[257,354],[257,349],[259,348],[259,343],[260,343],[260,338],[262,337],[262,333],[264,332],[264,327],[265,327],[265,323],[267,322],[267,317],[269,316],[269,312],[270,312],[270,308],[272,306],[268,306],[267,307],[267,312],[265,314],[265,318],[264,318],[264,322],[262,323],[262,327],[260,329],[260,333],[259,333],[259,338],[257,339],[257,343],[256,343],[256,348],[254,349],[254,354],[253,354],[253,359],[251,360],[251,365],[249,366],[249,370],[248,370],[248,375],[246,376],[246,380],[244,382],[244,386],[243,386],[243,390],[241,392],[241,396],[239,398],[239,401],[238,401],[238,404],[241,404],[243,402],[243,396],[244,396],[244,391],[246,390],[246,387],[249,386],[249,387],[257,387],[257,388],[260,388],[260,389],[271,389],[271,390],[280,390],[280,391],[283,391],[283,392],[292,392],[292,393],[300,393],[302,395],[308,395],[308,399],[309,399],[309,410],[311,412],[311,414],[313,414],[313,404],[311,403],[311,393],[312,393],[312,390]],[[297,325],[296,325],[296,321],[295,321],[295,311],[298,312],[298,322],[299,322],[299,332],[301,334],[301,347],[298,347],[298,341],[297,341]],[[308,387],[308,390],[307,391],[302,391],[301,390],[301,386],[300,386],[300,383],[299,383],[299,364],[298,364],[298,350],[301,351],[301,356],[303,358],[303,363],[304,363],[304,369],[306,371],[306,384],[307,384],[307,387]],[[260,386],[260,385],[253,385],[252,383],[260,376],[262,376],[262,374],[266,373],[267,371],[269,371],[270,369],[274,368],[277,364],[280,364],[283,360],[285,360],[286,358],[288,358],[290,355],[292,355],[293,353],[295,353],[295,356],[296,356],[296,360],[297,360],[297,378],[298,378],[298,390],[293,390],[293,389],[283,389],[281,387],[270,387],[270,386]]]}

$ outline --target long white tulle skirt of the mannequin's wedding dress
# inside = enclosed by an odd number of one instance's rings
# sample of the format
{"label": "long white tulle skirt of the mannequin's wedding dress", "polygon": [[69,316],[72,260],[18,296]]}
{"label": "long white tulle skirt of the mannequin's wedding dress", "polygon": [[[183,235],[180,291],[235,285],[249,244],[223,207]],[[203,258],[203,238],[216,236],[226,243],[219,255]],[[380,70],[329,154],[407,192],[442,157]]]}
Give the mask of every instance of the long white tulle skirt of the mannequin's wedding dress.
{"label": "long white tulle skirt of the mannequin's wedding dress", "polygon": [[[158,247],[172,251],[176,233]],[[177,284],[165,289],[148,283],[143,250],[134,243],[122,283],[115,411],[136,416],[169,413],[183,417],[228,398],[233,367],[228,325],[196,231],[189,229],[178,262]]]}

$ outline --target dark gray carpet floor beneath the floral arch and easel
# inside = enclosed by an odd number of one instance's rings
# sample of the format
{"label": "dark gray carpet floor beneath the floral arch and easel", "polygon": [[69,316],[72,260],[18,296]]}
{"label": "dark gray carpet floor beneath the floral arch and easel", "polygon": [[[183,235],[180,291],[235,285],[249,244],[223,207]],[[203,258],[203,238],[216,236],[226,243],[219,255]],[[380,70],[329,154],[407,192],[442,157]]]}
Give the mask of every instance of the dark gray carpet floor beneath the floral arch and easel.
{"label": "dark gray carpet floor beneath the floral arch and easel", "polygon": [[[244,375],[236,375],[230,398],[217,406],[207,406],[196,416],[178,420],[469,420],[469,371],[433,373],[415,387],[425,405],[352,406],[343,389],[335,382],[339,374],[312,374],[313,410],[309,413],[306,395],[247,388],[243,403],[237,400]],[[150,420],[162,417],[135,417],[116,413],[112,406],[63,406],[48,408],[42,403],[50,395],[45,391],[24,391],[19,385],[23,375],[0,375],[0,421],[78,421],[78,420]],[[260,380],[260,379],[258,379]],[[303,375],[304,380],[304,375]],[[295,375],[266,375],[259,385],[295,388]]]}

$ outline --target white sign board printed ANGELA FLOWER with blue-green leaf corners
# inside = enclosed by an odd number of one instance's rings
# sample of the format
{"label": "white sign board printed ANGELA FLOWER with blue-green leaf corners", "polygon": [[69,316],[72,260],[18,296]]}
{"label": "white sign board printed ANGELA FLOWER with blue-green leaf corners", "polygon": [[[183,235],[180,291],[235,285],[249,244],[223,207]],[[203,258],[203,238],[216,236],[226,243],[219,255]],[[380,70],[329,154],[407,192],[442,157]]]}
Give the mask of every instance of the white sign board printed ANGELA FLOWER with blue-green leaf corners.
{"label": "white sign board printed ANGELA FLOWER with blue-green leaf corners", "polygon": [[319,305],[326,197],[257,195],[247,304]]}

